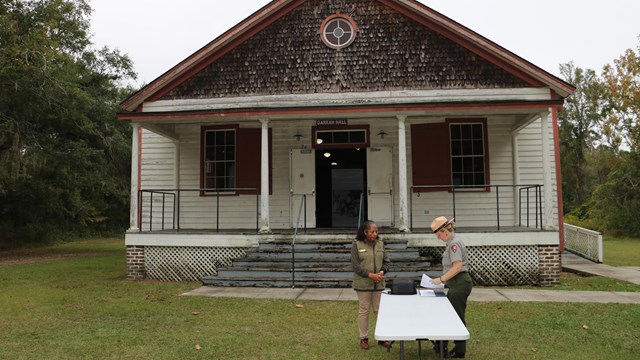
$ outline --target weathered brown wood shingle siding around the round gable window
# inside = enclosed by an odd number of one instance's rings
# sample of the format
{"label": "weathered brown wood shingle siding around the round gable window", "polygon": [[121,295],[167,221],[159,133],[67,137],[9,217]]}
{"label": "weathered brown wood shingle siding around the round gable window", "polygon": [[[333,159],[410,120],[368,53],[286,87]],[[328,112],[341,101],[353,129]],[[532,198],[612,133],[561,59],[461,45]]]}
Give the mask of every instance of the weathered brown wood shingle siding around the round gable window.
{"label": "weathered brown wood shingle siding around the round gable window", "polygon": [[[337,12],[359,30],[340,50],[319,35]],[[530,86],[379,1],[309,0],[161,99]]]}

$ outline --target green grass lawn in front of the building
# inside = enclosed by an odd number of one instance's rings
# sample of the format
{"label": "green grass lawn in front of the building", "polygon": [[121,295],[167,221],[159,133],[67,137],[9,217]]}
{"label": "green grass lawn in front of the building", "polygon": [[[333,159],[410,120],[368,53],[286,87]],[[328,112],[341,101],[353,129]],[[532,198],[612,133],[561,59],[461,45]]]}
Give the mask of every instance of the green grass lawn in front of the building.
{"label": "green grass lawn in front of the building", "polygon": [[[398,358],[397,345],[358,348],[355,301],[183,297],[201,284],[126,281],[122,239],[0,253],[0,264],[1,359]],[[595,279],[562,286],[629,291]],[[638,319],[629,304],[471,302],[467,357],[635,359]],[[408,342],[405,359],[417,358]]]}

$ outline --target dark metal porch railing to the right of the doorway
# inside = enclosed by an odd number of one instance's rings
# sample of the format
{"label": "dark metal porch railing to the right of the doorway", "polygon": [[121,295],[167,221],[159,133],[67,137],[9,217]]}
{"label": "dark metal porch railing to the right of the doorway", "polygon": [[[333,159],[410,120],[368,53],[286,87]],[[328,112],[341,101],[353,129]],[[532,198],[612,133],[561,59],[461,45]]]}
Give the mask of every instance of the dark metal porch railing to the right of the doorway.
{"label": "dark metal porch railing to the right of the doorway", "polygon": [[[526,215],[527,215],[527,227],[529,227],[529,189],[535,189],[535,217],[536,217],[536,228],[538,228],[538,214],[540,214],[540,230],[542,230],[542,187],[544,185],[540,184],[513,184],[513,185],[416,185],[411,187],[411,193],[417,192],[418,197],[421,192],[416,191],[420,189],[431,189],[433,191],[436,190],[448,190],[451,192],[452,198],[452,216],[456,218],[456,191],[466,190],[463,192],[473,192],[476,191],[485,191],[488,188],[495,188],[496,192],[496,224],[498,230],[500,230],[500,188],[519,188],[518,189],[518,204],[520,205],[518,208],[518,224],[522,226],[522,190],[527,191],[527,207],[526,207]],[[413,230],[413,196],[409,197],[409,229]]]}

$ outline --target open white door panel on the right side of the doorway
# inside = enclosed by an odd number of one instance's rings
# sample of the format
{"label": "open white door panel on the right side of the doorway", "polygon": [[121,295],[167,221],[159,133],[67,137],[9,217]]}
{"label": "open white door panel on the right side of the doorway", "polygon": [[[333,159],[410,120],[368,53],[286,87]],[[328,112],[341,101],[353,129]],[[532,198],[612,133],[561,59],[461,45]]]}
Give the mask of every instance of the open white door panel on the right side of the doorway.
{"label": "open white door panel on the right side of the doorway", "polygon": [[393,156],[391,148],[367,149],[369,219],[393,227]]}

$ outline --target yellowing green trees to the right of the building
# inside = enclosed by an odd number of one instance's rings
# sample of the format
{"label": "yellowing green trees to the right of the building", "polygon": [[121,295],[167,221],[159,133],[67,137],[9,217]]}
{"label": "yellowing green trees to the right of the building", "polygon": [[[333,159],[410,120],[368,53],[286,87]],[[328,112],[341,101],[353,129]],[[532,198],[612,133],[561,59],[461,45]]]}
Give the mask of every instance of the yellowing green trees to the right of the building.
{"label": "yellowing green trees to the right of the building", "polygon": [[560,113],[565,209],[607,233],[640,236],[640,59],[627,50],[600,78],[568,64],[577,90]]}

